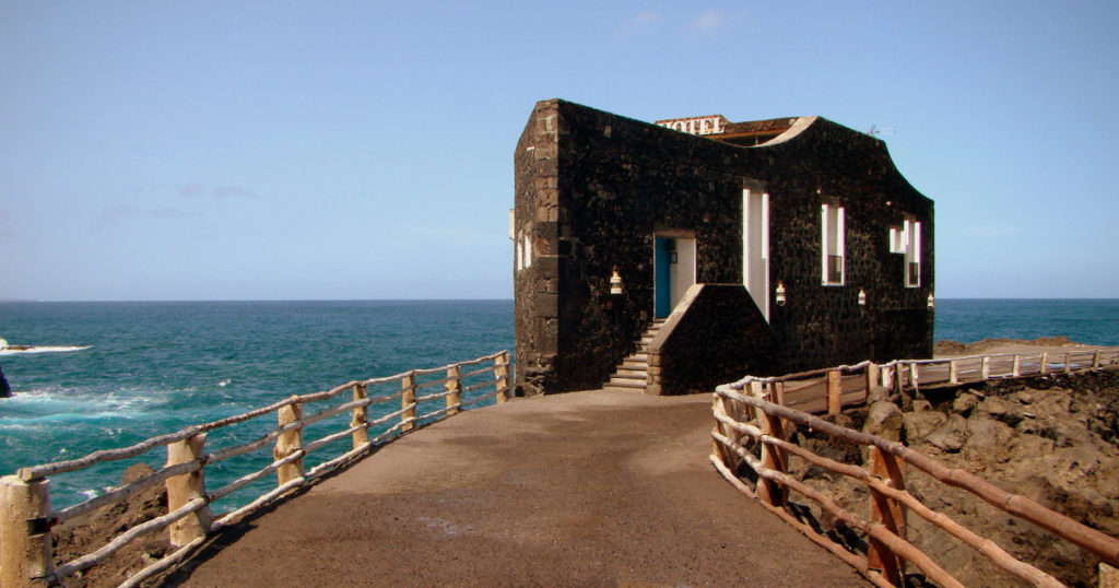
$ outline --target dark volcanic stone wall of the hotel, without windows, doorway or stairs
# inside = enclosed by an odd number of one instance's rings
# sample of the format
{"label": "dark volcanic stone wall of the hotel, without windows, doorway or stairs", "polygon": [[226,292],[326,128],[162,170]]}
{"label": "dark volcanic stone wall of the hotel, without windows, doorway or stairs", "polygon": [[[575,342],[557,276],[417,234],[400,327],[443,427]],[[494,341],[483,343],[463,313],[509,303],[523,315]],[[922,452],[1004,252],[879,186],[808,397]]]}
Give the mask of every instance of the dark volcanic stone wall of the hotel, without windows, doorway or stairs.
{"label": "dark volcanic stone wall of the hotel, without windows, doorway or stairs", "polygon": [[[530,265],[514,262],[519,393],[599,388],[634,351],[653,315],[658,232],[694,236],[698,282],[741,283],[744,186],[770,194],[770,299],[778,282],[788,291],[769,309],[786,360],[775,370],[931,354],[932,203],[877,139],[810,118],[743,148],[552,100],[536,104],[514,161],[514,237],[532,249]],[[825,199],[846,211],[843,287],[820,284]],[[921,288],[904,288],[888,253],[905,214],[923,223]],[[609,293],[614,267],[621,296]]]}

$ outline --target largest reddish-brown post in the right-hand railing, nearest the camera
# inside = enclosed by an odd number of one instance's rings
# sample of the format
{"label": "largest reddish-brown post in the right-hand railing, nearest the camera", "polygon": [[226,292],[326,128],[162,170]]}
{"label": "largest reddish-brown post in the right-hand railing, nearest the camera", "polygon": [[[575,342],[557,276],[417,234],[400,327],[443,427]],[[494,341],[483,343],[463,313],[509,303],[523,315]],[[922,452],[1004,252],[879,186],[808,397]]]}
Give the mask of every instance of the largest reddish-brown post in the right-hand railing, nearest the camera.
{"label": "largest reddish-brown post in the right-hand railing, nearest the camera", "polygon": [[[905,489],[905,474],[892,454],[871,447],[871,474],[896,489]],[[905,539],[905,508],[884,494],[871,491],[871,522],[882,523],[891,533]],[[894,586],[903,586],[905,561],[890,551],[890,548],[874,538],[867,538],[866,562],[871,569],[880,570]]]}

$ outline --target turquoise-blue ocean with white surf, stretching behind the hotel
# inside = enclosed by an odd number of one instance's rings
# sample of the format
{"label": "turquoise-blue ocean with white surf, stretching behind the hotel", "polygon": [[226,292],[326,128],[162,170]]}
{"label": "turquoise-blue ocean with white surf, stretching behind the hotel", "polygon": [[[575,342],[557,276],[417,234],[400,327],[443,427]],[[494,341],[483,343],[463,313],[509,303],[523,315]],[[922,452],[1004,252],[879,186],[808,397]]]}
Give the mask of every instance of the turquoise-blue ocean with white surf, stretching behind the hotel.
{"label": "turquoise-blue ocean with white surf, stretching behind the hotel", "polygon": [[[1119,345],[1119,300],[937,300],[937,339],[1050,335]],[[511,352],[513,301],[0,302],[0,337],[54,347],[0,352],[15,390],[0,400],[6,475],[291,394]],[[370,414],[393,408],[375,404]],[[257,420],[260,430],[275,423],[272,416]],[[323,458],[344,450],[323,449]],[[128,465],[159,467],[164,457],[159,450],[55,476],[51,500],[56,507],[76,503],[117,484]],[[242,461],[207,468],[207,487],[262,467],[271,454]],[[256,483],[255,494],[274,484]],[[216,510],[251,497],[226,498]]]}

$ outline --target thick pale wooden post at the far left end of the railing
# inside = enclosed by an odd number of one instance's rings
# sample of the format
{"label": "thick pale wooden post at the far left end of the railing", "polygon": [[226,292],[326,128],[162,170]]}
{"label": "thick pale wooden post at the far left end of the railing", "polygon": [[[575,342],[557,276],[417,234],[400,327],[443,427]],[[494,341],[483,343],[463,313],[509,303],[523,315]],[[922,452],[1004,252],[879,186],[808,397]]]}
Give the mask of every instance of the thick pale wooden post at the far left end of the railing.
{"label": "thick pale wooden post at the far left end of the railing", "polygon": [[50,483],[0,478],[0,586],[46,586],[55,571],[50,549]]}

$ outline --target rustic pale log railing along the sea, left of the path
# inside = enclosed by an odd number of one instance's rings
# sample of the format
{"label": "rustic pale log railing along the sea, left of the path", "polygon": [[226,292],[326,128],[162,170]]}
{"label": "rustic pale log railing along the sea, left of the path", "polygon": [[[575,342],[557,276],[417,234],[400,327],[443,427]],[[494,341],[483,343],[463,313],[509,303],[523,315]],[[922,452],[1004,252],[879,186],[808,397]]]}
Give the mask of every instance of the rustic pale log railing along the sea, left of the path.
{"label": "rustic pale log railing along the sea, left of the path", "polygon": [[[466,371],[464,371],[466,370]],[[445,374],[445,375],[443,375]],[[491,377],[487,377],[492,374]],[[439,377],[443,375],[443,377]],[[347,382],[325,392],[293,395],[274,404],[244,414],[188,427],[178,432],[152,437],[131,447],[95,451],[79,459],[57,461],[41,466],[21,468],[15,476],[0,480],[0,585],[8,587],[43,586],[72,576],[81,570],[111,558],[137,538],[169,530],[170,543],[175,549],[166,558],[144,568],[121,586],[139,586],[142,581],[161,573],[201,544],[206,536],[233,524],[246,514],[260,508],[300,486],[360,458],[417,424],[458,413],[490,398],[505,402],[510,388],[509,355],[500,352],[478,360],[461,362],[431,370],[413,370],[387,377]],[[383,394],[372,391],[387,388]],[[491,389],[492,390],[489,390]],[[317,412],[304,414],[304,408],[333,400],[346,392],[347,401],[327,405]],[[376,418],[369,417],[369,405],[399,399],[399,410]],[[464,400],[466,399],[466,400]],[[442,402],[439,402],[442,400]],[[421,412],[421,407],[441,407]],[[278,426],[255,439],[206,452],[206,437],[211,431],[224,429],[276,413]],[[345,428],[314,440],[304,439],[304,433],[314,430],[312,424],[349,413]],[[395,423],[393,423],[395,421]],[[337,422],[336,422],[337,423]],[[388,426],[389,423],[393,423]],[[386,429],[369,438],[370,429]],[[322,429],[323,426],[319,426]],[[303,461],[312,451],[328,444],[349,438],[349,449],[326,461],[305,469]],[[272,461],[256,472],[242,476],[219,488],[207,491],[206,468],[224,460],[252,454],[272,446]],[[95,464],[145,455],[159,447],[167,447],[167,465],[145,477],[73,506],[53,511],[50,508],[50,483],[48,476],[76,472]],[[276,486],[229,513],[215,516],[210,503],[229,496],[252,483],[275,473]],[[102,506],[121,502],[144,488],[162,483],[167,488],[168,513],[128,529],[100,549],[55,568],[51,553],[50,528],[55,524],[91,513]]]}

